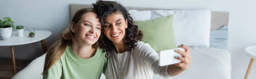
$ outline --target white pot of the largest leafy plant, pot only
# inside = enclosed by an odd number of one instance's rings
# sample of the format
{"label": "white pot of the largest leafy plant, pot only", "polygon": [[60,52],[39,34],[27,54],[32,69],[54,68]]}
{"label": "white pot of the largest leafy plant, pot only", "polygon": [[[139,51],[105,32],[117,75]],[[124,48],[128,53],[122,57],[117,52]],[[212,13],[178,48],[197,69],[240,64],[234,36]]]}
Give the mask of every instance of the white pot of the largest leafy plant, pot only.
{"label": "white pot of the largest leafy plant, pot only", "polygon": [[0,40],[9,39],[12,36],[12,27],[0,28]]}

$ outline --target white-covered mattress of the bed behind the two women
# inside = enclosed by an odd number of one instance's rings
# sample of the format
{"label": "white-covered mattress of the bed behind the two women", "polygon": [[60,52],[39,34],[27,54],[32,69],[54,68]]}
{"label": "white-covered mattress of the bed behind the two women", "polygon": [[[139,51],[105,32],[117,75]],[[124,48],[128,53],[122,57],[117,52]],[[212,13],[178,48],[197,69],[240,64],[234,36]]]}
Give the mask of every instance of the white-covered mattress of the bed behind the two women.
{"label": "white-covered mattress of the bed behind the two women", "polygon": [[[172,79],[231,79],[231,56],[225,49],[191,48],[188,70]],[[45,54],[33,60],[12,79],[42,79]],[[102,75],[101,79],[105,79]],[[153,79],[164,79],[154,75]]]}

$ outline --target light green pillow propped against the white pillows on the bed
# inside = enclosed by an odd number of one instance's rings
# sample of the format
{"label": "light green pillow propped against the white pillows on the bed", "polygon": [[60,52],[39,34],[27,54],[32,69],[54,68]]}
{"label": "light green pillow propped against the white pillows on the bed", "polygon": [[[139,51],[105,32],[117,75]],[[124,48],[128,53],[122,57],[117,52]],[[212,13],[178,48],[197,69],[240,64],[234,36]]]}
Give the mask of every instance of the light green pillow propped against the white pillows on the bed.
{"label": "light green pillow propped against the white pillows on the bed", "polygon": [[177,48],[172,28],[173,15],[151,20],[135,21],[143,31],[142,42],[148,43],[156,51]]}

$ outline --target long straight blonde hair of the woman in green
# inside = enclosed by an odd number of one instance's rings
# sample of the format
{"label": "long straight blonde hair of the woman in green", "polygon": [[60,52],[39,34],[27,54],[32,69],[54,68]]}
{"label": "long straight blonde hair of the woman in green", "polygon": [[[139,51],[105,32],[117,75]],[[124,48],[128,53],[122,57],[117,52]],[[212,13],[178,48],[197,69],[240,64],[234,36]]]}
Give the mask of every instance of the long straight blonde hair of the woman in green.
{"label": "long straight blonde hair of the woman in green", "polygon": [[[71,22],[74,22],[75,24],[78,23],[78,21],[82,18],[82,16],[87,12],[93,12],[92,8],[79,9],[74,15],[74,17],[72,18]],[[74,33],[71,31],[67,33],[71,33],[70,41],[59,40],[53,43],[53,45],[48,49],[47,54],[45,56],[45,60],[44,60],[44,71],[42,73],[43,75],[47,73],[47,71],[52,67],[52,65],[54,65],[60,59],[60,57],[64,54],[67,48],[67,45],[72,44]],[[97,49],[98,47],[99,47],[99,41],[97,41],[92,45],[92,48]]]}

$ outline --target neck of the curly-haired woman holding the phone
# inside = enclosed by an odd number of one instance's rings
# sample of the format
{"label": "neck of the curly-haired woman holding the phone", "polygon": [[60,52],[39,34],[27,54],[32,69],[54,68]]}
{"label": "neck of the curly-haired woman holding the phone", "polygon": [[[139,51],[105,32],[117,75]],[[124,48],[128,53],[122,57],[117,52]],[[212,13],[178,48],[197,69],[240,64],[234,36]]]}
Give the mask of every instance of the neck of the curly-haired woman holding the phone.
{"label": "neck of the curly-haired woman holding the phone", "polygon": [[113,44],[116,48],[116,53],[124,53],[127,50],[127,45],[125,45],[123,41],[118,43],[113,42]]}

